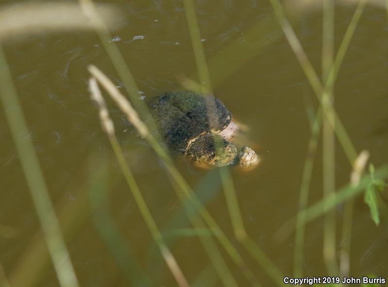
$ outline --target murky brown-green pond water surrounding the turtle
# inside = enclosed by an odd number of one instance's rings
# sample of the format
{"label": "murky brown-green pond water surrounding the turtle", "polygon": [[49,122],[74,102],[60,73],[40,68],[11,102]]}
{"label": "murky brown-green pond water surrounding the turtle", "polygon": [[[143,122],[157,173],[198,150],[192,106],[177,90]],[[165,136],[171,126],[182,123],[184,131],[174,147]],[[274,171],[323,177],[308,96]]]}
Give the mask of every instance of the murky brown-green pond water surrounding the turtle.
{"label": "murky brown-green pond water surrounding the turtle", "polygon": [[[166,91],[180,90],[179,77],[196,72],[183,3],[168,2],[115,3],[127,15],[127,23],[113,31],[113,35],[142,91],[139,98],[150,99]],[[268,29],[265,44],[250,36],[253,29],[272,27],[269,2],[196,1],[196,8],[215,94],[238,121],[249,126],[247,136],[262,158],[260,166],[252,172],[233,171],[246,229],[279,269],[291,276],[294,236],[279,242],[274,234],[297,213],[310,137],[306,110],[315,109],[317,100],[287,41],[279,36],[280,30]],[[353,9],[337,7],[336,46]],[[320,71],[321,14],[306,13],[295,27]],[[368,149],[376,166],[388,161],[387,39],[386,12],[367,7],[335,89],[337,112],[355,147],[358,151]],[[234,52],[227,54],[231,45]],[[120,174],[101,130],[98,112],[87,94],[89,64],[97,65],[120,90],[125,90],[98,37],[93,33],[32,36],[6,43],[5,51],[52,201],[58,215],[65,211],[66,215],[60,217],[73,218],[69,223],[66,219],[61,222],[69,226],[64,227],[64,233],[81,285],[133,286],[130,270],[135,270],[131,265],[134,259],[133,263],[142,270],[135,271],[139,278],[143,272],[152,286],[175,286]],[[171,226],[190,225],[181,212],[166,170],[121,112],[113,104],[109,107],[135,179],[158,226],[171,240],[170,248],[186,278],[193,283],[205,269],[214,275],[197,237],[170,234]],[[58,286],[51,261],[44,255],[39,223],[2,112],[0,144],[0,226],[8,227],[0,229],[0,263],[11,286]],[[321,145],[318,148],[310,202],[322,197]],[[339,143],[336,151],[336,181],[340,187],[348,182],[351,167]],[[109,173],[110,188],[104,204],[97,204],[93,212],[97,199],[89,195],[89,174],[100,170],[101,162]],[[234,239],[218,173],[196,169],[181,159],[176,163],[198,194],[209,189],[203,199],[209,212],[262,286],[273,286],[263,269]],[[386,193],[383,197],[387,200]],[[338,250],[343,244],[340,237],[343,209],[343,205],[336,209]],[[174,221],[180,223],[172,225]],[[109,226],[111,229],[107,230]],[[362,197],[357,197],[351,235],[351,275],[387,276],[387,231],[387,221],[383,219],[375,227]],[[116,237],[117,233],[120,237]],[[307,276],[327,274],[322,259],[322,233],[321,219],[308,224],[304,245]],[[108,248],[103,234],[118,240],[113,244],[119,249],[118,255]],[[242,272],[227,255],[224,257],[238,285],[248,286]],[[221,283],[216,279],[209,286]]]}

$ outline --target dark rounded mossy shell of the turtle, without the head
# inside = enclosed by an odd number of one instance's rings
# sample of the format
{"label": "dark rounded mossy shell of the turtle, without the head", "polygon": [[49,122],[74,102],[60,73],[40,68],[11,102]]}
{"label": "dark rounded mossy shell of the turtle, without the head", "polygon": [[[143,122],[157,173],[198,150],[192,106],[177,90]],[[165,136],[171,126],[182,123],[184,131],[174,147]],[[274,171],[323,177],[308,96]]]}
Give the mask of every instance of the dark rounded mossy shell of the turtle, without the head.
{"label": "dark rounded mossy shell of the turtle, without the head", "polygon": [[150,103],[152,117],[171,150],[185,152],[187,143],[201,134],[219,132],[232,119],[231,112],[212,95],[178,91]]}

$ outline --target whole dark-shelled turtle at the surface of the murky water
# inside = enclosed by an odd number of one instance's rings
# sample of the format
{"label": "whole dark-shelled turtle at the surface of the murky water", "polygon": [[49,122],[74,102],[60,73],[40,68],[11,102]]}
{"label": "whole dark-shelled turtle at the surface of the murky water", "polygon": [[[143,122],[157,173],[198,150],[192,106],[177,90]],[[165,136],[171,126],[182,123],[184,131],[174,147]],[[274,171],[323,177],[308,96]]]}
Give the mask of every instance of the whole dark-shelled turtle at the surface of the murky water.
{"label": "whole dark-shelled turtle at the surface of the murky water", "polygon": [[248,146],[237,152],[232,143],[240,126],[232,113],[213,95],[176,91],[150,102],[152,118],[171,151],[197,165],[255,167],[260,159]]}

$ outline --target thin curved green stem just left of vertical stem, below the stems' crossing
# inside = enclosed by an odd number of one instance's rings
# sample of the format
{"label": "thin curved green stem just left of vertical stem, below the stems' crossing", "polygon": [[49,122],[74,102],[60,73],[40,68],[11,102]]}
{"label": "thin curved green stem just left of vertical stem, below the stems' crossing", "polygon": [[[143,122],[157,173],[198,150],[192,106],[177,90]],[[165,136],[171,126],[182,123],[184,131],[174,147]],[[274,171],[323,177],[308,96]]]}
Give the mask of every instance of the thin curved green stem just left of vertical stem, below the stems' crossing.
{"label": "thin curved green stem just left of vertical stem, below the stems' crossing", "polygon": [[[302,184],[299,197],[299,210],[302,211],[308,204],[308,193],[310,189],[311,174],[314,165],[314,158],[317,151],[319,135],[321,131],[322,109],[320,108],[315,116],[311,128],[311,137],[307,146],[306,159],[304,161]],[[294,247],[294,276],[302,278],[303,247],[304,247],[304,214],[298,213],[296,219],[295,247]]]}

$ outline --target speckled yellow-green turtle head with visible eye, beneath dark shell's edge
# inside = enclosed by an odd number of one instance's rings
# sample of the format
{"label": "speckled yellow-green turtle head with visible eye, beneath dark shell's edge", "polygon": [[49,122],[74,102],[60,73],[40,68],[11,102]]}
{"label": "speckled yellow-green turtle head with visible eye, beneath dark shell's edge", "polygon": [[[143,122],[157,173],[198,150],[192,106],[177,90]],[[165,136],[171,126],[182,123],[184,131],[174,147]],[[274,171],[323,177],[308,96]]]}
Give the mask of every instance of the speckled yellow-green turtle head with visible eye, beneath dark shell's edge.
{"label": "speckled yellow-green turtle head with visible eye, beneath dark shell's edge", "polygon": [[190,143],[186,156],[197,161],[215,166],[230,165],[237,155],[236,147],[216,133],[200,136]]}

